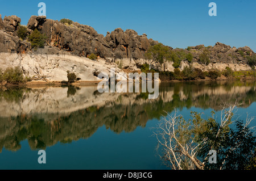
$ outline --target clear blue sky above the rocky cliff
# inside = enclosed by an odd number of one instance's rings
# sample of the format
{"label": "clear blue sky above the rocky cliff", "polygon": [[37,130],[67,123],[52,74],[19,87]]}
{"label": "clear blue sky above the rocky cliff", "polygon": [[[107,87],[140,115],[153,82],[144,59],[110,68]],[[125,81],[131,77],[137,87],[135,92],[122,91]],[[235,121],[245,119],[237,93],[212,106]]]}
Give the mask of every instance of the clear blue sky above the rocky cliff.
{"label": "clear blue sky above the rocky cliff", "polygon": [[[221,42],[256,52],[255,0],[12,0],[1,1],[0,14],[17,15],[27,24],[31,15],[38,15],[39,2],[46,3],[48,19],[68,18],[104,36],[120,27],[173,48]],[[217,16],[209,16],[210,2],[217,4]]]}

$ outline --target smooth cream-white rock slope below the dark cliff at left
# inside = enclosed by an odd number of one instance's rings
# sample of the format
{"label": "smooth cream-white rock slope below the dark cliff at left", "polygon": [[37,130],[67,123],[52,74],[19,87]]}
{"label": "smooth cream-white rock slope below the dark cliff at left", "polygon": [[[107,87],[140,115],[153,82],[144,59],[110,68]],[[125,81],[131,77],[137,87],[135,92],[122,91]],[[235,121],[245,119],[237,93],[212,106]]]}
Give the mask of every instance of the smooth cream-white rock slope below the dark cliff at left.
{"label": "smooth cream-white rock slope below the dark cliff at left", "polygon": [[[67,71],[71,71],[81,78],[81,81],[99,81],[94,72],[110,75],[110,69],[115,69],[117,77],[125,74],[116,65],[110,65],[105,60],[93,61],[89,58],[72,56],[69,54],[16,54],[0,53],[0,69],[19,66],[26,76],[47,81],[68,81]],[[119,75],[120,73],[120,75]]]}

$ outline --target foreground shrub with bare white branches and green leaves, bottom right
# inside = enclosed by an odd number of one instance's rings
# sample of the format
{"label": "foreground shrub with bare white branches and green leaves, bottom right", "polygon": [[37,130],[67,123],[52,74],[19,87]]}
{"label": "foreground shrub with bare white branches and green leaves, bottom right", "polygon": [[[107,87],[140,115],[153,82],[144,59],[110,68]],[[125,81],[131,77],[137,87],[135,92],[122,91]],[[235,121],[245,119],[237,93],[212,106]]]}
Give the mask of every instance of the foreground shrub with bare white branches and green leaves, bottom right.
{"label": "foreground shrub with bare white branches and green leaves, bottom right", "polygon": [[[191,112],[192,119],[185,120],[176,111],[163,117],[155,133],[163,163],[175,170],[255,168],[256,137],[249,128],[253,118],[233,120],[237,106],[222,108],[220,120],[213,111],[208,119]],[[210,150],[216,150],[216,163],[209,163]]]}

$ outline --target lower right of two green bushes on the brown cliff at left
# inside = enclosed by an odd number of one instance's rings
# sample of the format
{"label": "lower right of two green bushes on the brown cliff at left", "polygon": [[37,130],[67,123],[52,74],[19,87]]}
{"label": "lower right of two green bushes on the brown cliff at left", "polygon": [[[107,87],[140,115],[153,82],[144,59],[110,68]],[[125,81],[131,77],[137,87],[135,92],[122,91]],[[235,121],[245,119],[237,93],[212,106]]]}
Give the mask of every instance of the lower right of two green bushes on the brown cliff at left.
{"label": "lower right of two green bushes on the brown cliff at left", "polygon": [[40,33],[37,29],[35,29],[30,36],[28,36],[28,40],[31,42],[32,48],[37,50],[38,48],[44,48],[44,44],[46,43],[46,35]]}

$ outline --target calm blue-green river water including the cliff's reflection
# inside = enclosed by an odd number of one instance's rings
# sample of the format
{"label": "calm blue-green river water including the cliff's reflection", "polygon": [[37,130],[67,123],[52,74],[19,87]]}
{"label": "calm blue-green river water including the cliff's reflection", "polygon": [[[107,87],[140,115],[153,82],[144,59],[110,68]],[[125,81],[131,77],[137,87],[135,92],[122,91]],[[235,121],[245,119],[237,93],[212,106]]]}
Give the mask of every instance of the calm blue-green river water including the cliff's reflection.
{"label": "calm blue-green river water including the cliff's reflection", "polygon": [[152,130],[163,110],[189,119],[235,100],[241,119],[256,116],[256,82],[162,83],[154,100],[94,86],[0,89],[0,169],[166,169]]}

